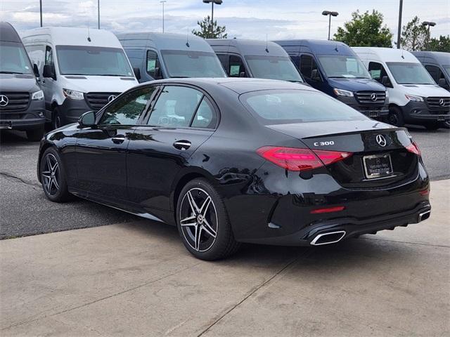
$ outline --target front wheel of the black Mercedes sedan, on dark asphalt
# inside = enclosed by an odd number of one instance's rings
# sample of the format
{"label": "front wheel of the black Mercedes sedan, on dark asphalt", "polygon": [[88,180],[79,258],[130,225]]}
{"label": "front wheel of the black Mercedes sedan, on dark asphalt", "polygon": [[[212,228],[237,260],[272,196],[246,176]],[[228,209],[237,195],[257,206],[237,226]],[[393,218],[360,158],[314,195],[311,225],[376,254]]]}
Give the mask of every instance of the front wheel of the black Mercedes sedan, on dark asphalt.
{"label": "front wheel of the black Mercedes sedan, on dark asphalt", "polygon": [[65,202],[70,199],[63,162],[55,148],[49,147],[42,154],[39,176],[47,199],[53,202]]}

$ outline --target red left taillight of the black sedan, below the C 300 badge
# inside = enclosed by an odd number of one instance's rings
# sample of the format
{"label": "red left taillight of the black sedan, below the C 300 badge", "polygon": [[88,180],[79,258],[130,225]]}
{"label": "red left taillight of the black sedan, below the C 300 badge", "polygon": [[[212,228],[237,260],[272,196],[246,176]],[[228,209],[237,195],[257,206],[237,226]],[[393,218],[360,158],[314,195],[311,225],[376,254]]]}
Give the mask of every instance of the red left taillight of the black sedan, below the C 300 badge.
{"label": "red left taillight of the black sedan, below the C 300 badge", "polygon": [[300,149],[297,147],[259,147],[257,153],[289,171],[308,171],[348,158],[351,152]]}

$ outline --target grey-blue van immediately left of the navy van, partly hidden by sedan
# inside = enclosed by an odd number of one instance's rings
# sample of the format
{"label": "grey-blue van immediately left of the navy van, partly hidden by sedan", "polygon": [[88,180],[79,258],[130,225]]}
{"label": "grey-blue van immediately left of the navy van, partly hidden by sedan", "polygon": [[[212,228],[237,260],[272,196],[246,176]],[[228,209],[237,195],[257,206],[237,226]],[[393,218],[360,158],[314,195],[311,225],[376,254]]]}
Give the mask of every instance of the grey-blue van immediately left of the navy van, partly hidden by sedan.
{"label": "grey-blue van immediately left of the navy van, partly hidden by sedan", "polygon": [[289,55],[274,42],[207,39],[229,77],[257,77],[304,83]]}

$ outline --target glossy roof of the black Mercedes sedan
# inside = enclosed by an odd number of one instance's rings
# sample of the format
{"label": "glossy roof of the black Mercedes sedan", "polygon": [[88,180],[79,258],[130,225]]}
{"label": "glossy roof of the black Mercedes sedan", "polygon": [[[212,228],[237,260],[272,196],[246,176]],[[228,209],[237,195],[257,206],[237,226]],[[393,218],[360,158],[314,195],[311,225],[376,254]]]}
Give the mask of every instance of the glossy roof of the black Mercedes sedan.
{"label": "glossy roof of the black Mercedes sedan", "polygon": [[278,89],[297,89],[316,91],[316,89],[301,83],[293,83],[288,81],[279,81],[275,79],[253,79],[253,78],[236,78],[236,77],[213,77],[213,78],[189,78],[189,79],[160,79],[158,81],[150,81],[146,84],[191,84],[200,88],[208,89],[208,87],[221,86],[235,93],[242,94],[250,91],[260,90],[278,90]]}

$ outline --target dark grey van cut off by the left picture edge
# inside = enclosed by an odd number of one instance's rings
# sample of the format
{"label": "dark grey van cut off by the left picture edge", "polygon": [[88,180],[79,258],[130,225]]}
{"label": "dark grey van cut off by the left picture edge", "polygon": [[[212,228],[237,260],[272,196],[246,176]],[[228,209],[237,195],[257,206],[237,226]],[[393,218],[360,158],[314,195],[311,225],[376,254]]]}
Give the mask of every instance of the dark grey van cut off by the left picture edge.
{"label": "dark grey van cut off by the left picture edge", "polygon": [[44,93],[36,77],[14,27],[0,22],[0,130],[26,131],[29,140],[44,136]]}

